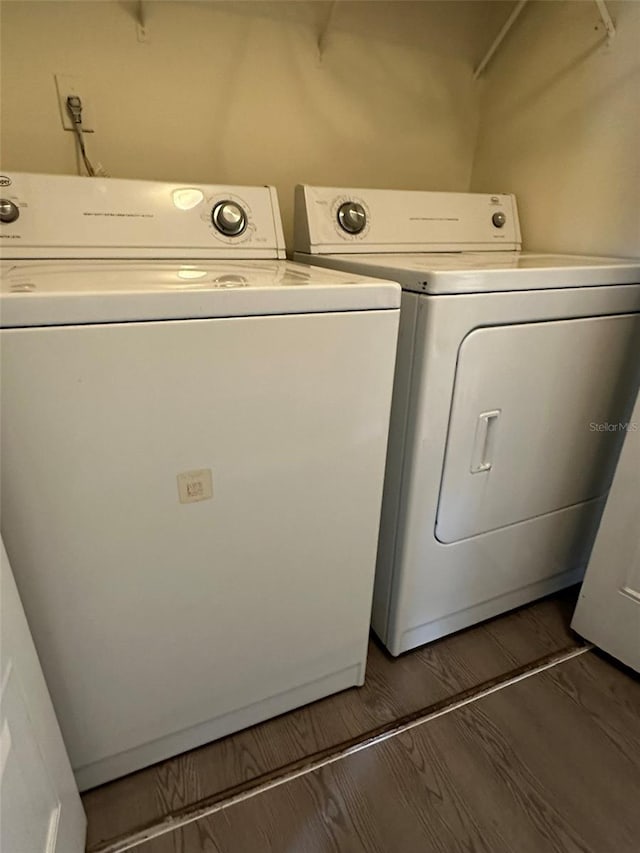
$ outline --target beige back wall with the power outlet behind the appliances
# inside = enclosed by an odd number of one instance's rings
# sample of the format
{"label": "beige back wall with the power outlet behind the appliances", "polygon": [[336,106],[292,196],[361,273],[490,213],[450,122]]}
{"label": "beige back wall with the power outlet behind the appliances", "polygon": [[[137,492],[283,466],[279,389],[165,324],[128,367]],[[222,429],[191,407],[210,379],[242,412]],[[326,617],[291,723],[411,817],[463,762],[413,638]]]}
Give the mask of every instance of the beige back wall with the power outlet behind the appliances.
{"label": "beige back wall with the power outlet behind the appliances", "polygon": [[[54,74],[94,102],[91,158],[114,177],[466,190],[486,3],[3,2],[1,163],[75,173]],[[500,4],[498,4],[499,6]],[[478,46],[479,45],[479,46]]]}

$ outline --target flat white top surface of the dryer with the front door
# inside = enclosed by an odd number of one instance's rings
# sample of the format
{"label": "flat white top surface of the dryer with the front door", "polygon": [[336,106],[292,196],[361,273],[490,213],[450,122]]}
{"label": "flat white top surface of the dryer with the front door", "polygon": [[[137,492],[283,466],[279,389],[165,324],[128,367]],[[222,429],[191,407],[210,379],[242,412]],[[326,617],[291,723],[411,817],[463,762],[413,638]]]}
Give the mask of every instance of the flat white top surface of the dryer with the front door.
{"label": "flat white top surface of the dryer with the front door", "polygon": [[[298,260],[302,256],[296,254]],[[314,263],[399,281],[416,293],[491,293],[640,283],[640,260],[534,252],[313,256]]]}

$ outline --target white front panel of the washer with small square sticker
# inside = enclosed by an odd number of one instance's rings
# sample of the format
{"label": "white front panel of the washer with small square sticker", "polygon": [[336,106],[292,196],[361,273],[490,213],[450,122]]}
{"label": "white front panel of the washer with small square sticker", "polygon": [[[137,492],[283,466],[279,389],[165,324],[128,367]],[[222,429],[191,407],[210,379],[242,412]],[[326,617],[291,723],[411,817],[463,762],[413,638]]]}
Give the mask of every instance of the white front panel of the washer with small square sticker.
{"label": "white front panel of the washer with small square sticker", "polygon": [[3,535],[74,768],[361,681],[398,315],[0,332]]}

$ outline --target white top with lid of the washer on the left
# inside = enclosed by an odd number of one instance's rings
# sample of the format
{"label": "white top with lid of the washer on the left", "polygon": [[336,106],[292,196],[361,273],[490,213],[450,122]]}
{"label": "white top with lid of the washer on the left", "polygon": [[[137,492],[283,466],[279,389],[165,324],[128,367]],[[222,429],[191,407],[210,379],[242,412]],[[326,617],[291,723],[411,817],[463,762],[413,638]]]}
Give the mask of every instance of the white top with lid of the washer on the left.
{"label": "white top with lid of the washer on the left", "polygon": [[0,267],[3,327],[399,307],[394,282],[288,261],[22,261]]}

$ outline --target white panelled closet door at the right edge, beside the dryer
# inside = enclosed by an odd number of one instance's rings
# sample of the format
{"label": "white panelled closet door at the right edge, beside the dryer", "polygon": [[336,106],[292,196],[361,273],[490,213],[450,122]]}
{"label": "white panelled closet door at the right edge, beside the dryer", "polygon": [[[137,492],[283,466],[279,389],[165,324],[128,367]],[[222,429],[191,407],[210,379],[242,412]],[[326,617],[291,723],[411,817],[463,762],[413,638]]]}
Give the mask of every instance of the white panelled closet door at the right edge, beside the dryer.
{"label": "white panelled closet door at the right edge, beside the dryer", "polygon": [[571,627],[640,673],[640,393],[624,436]]}

